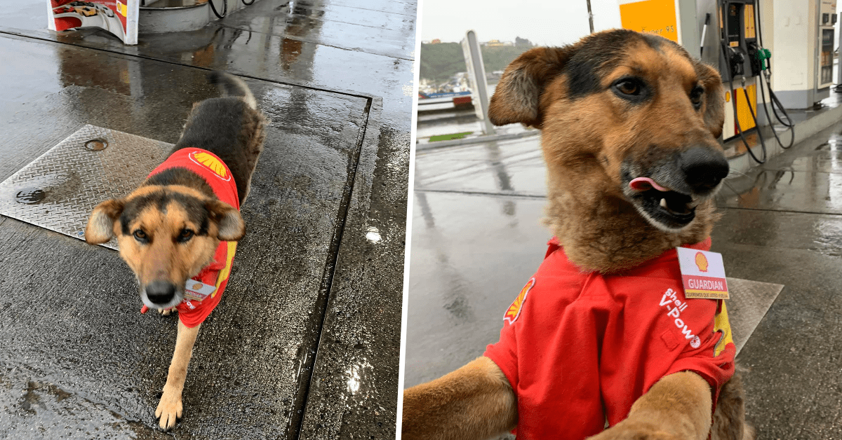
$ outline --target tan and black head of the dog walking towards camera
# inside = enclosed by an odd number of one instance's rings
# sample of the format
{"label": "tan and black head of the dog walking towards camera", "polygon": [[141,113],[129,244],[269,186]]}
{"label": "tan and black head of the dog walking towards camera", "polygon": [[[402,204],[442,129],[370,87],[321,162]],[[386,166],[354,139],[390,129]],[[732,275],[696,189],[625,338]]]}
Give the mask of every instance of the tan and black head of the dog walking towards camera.
{"label": "tan and black head of the dog walking towards camera", "polygon": [[145,185],[125,199],[98,204],[85,241],[99,244],[116,236],[143,304],[167,309],[184,299],[184,283],[213,259],[220,241],[238,241],[244,234],[240,212],[207,193]]}

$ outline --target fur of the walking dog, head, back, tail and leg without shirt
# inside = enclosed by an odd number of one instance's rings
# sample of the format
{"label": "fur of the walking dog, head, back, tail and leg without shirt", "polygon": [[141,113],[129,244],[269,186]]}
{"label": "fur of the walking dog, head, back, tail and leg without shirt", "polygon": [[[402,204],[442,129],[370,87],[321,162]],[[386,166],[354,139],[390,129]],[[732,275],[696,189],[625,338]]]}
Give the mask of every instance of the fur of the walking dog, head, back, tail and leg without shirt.
{"label": "fur of the walking dog, head, back, tail and leg without shirt", "polygon": [[[254,167],[263,151],[264,115],[248,86],[236,77],[211,72],[224,95],[195,103],[184,132],[170,151],[201,148],[219,156],[231,170],[240,204],[248,196]],[[239,211],[216,198],[195,172],[174,167],[153,175],[123,199],[105,200],[93,209],[85,240],[100,244],[117,237],[120,257],[134,271],[141,300],[168,313],[184,299],[184,283],[212,262],[220,241],[239,241],[245,224]],[[153,284],[173,288],[156,303],[147,295]],[[155,411],[159,426],[175,426],[182,414],[181,392],[199,326],[179,321],[167,384]]]}

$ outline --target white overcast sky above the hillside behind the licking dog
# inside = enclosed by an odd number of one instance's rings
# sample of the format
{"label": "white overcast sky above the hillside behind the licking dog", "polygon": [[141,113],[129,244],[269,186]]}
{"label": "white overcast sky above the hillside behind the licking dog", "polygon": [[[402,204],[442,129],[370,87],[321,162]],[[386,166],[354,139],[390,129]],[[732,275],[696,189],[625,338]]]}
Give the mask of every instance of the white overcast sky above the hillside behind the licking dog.
{"label": "white overcast sky above the hillside behind the licking dog", "polygon": [[[594,29],[620,27],[617,0],[591,0]],[[589,34],[586,0],[424,0],[421,40],[461,41],[474,29],[480,41],[570,44]]]}

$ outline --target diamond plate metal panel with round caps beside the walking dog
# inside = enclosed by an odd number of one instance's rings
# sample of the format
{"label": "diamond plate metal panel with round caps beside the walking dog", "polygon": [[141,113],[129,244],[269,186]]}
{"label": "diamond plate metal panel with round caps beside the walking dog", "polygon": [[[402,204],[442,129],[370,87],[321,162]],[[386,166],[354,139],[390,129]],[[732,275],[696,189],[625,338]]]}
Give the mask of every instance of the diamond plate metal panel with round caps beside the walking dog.
{"label": "diamond plate metal panel with round caps beside the walking dog", "polygon": [[[89,150],[85,143],[94,139],[108,146]],[[0,214],[84,240],[93,207],[137,188],[172,147],[85,125],[0,183]],[[116,249],[117,241],[103,246]]]}

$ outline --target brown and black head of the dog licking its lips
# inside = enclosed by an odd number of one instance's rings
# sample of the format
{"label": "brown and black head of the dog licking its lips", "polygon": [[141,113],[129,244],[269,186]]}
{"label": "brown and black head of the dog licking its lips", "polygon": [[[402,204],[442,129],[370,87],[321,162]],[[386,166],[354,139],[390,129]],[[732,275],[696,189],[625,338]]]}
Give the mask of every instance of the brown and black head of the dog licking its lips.
{"label": "brown and black head of the dog licking its lips", "polygon": [[[542,130],[553,179],[632,204],[679,232],[728,172],[719,74],[679,45],[616,29],[526,51],[505,70],[488,116]],[[552,188],[551,188],[552,189]]]}

